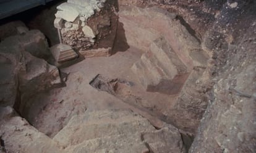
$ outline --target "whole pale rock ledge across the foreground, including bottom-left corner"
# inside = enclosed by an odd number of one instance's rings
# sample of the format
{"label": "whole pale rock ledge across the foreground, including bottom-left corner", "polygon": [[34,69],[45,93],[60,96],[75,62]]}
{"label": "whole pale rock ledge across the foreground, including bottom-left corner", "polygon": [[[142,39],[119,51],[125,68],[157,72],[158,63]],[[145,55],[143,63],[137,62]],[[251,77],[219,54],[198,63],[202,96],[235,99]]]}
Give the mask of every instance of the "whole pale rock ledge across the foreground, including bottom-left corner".
{"label": "whole pale rock ledge across the foreground, including bottom-left corner", "polygon": [[[163,130],[155,130],[146,118],[129,110],[94,110],[74,115],[53,139],[17,117],[10,107],[1,107],[0,117],[4,118],[0,121],[1,137],[5,140],[7,152],[141,153],[156,147],[160,152],[169,147],[172,151],[184,152],[181,135],[176,128],[166,125]],[[169,144],[169,141],[173,143]],[[14,142],[15,146],[12,145]],[[155,147],[156,144],[161,145]]]}

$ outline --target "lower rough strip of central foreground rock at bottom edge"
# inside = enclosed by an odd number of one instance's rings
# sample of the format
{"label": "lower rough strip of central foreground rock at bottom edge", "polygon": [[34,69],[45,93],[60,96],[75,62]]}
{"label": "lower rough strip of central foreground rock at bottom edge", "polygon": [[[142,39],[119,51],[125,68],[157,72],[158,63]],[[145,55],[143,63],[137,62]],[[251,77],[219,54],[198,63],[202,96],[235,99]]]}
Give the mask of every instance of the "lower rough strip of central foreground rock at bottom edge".
{"label": "lower rough strip of central foreground rock at bottom edge", "polygon": [[75,146],[70,146],[68,152],[143,152],[148,151],[147,146],[141,139],[142,133],[117,134],[89,139]]}

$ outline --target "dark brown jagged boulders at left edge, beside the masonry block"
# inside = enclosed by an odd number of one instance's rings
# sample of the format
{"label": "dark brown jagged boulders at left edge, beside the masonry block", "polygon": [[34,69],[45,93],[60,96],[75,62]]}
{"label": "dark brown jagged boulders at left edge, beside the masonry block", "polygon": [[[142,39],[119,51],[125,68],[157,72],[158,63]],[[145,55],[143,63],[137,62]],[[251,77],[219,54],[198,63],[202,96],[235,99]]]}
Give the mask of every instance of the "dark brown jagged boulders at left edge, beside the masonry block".
{"label": "dark brown jagged boulders at left edge, beside the masonry block", "polygon": [[28,98],[35,92],[60,84],[58,68],[40,59],[50,56],[46,38],[38,30],[1,41],[1,105],[19,105],[20,98]]}

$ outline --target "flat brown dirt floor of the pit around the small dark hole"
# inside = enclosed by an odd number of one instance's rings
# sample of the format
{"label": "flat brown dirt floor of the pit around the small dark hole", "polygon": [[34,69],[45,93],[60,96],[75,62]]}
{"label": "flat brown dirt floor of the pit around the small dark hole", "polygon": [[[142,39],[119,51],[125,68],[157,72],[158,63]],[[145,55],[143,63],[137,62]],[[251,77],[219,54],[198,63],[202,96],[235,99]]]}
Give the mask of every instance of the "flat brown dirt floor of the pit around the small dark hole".
{"label": "flat brown dirt floor of the pit around the small dark hole", "polygon": [[[28,121],[38,130],[51,138],[69,121],[72,115],[82,114],[85,110],[132,109],[148,118],[154,126],[161,127],[164,114],[173,107],[173,99],[160,93],[148,93],[140,85],[130,67],[139,60],[142,52],[129,48],[111,57],[95,57],[63,68],[68,73],[66,87],[52,89],[37,94],[30,108]],[[132,83],[132,86],[119,86],[117,96],[90,86],[90,81],[101,74],[108,78],[119,78]]]}

